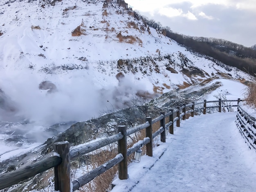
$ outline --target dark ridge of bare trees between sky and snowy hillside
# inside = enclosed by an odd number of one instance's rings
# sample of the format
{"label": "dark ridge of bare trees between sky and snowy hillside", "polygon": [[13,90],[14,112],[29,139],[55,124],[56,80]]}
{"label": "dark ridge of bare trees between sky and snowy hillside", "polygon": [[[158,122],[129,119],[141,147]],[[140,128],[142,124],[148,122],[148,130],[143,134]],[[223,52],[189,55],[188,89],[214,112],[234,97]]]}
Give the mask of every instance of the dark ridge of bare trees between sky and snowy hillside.
{"label": "dark ridge of bare trees between sky and snowy hillside", "polygon": [[149,20],[136,12],[135,18],[141,20],[146,27],[150,26],[161,31],[162,34],[183,45],[189,51],[209,56],[251,75],[256,73],[256,50],[252,48],[223,39],[192,37],[174,33],[170,27],[162,27],[160,22]]}

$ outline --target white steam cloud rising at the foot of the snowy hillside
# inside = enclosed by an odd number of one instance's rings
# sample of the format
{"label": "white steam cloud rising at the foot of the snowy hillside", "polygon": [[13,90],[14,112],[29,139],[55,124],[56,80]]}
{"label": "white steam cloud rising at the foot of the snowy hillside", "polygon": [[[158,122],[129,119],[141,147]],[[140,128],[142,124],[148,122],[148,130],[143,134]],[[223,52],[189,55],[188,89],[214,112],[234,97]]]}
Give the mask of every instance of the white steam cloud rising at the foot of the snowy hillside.
{"label": "white steam cloud rising at the foot of the snowy hillside", "polygon": [[[39,84],[49,80],[57,87],[56,92],[40,90]],[[17,103],[20,116],[40,125],[52,125],[61,121],[85,121],[99,116],[100,111],[123,108],[132,94],[141,89],[152,90],[147,82],[132,83],[130,78],[112,78],[105,85],[93,83],[91,75],[54,74],[43,76],[13,71],[2,74],[2,90]],[[109,101],[109,102],[108,102]],[[4,120],[4,119],[2,119]]]}

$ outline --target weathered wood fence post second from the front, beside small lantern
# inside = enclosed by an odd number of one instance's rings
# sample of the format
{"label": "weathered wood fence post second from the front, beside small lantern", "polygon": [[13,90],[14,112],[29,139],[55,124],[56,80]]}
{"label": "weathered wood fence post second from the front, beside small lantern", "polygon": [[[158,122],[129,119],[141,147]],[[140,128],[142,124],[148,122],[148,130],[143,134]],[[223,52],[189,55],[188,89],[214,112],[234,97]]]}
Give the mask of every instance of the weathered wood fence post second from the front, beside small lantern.
{"label": "weathered wood fence post second from the front, beside small lantern", "polygon": [[119,179],[128,179],[128,168],[127,168],[127,133],[125,125],[118,125],[117,131],[124,135],[124,138],[118,141],[118,153],[123,154],[124,160],[118,163],[118,175]]}

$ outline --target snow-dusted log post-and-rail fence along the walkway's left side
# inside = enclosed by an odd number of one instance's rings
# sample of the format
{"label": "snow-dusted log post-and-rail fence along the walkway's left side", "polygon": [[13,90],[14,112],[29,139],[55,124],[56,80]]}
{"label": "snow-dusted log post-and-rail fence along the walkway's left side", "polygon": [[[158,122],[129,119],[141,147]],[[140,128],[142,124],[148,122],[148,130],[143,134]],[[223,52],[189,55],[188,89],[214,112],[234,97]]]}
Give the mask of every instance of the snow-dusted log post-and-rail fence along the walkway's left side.
{"label": "snow-dusted log post-and-rail fence along the walkway's left side", "polygon": [[[206,109],[215,108],[219,109],[221,112],[222,107],[226,107],[226,105],[222,105],[225,102],[240,102],[240,98],[238,100],[215,100],[215,101],[207,101],[204,100],[203,102],[198,103],[183,103],[182,106],[177,106],[176,109],[171,109],[170,112],[160,112],[160,116],[157,118],[152,119],[151,117],[146,118],[146,123],[133,127],[131,129],[127,129],[125,125],[117,126],[118,133],[112,135],[107,138],[103,138],[99,141],[95,141],[93,143],[83,145],[81,147],[76,147],[70,150],[69,142],[58,142],[54,143],[54,156],[47,157],[46,159],[40,160],[32,165],[21,167],[18,170],[14,170],[9,173],[4,173],[0,175],[0,190],[4,188],[8,188],[11,185],[17,184],[20,181],[25,179],[29,179],[31,176],[35,176],[38,173],[42,173],[52,167],[54,167],[54,182],[55,182],[55,191],[60,192],[71,192],[74,190],[78,190],[86,183],[92,181],[95,177],[99,176],[103,172],[106,172],[108,169],[112,168],[113,166],[118,164],[119,169],[119,179],[128,179],[128,161],[127,157],[138,150],[140,147],[146,145],[146,154],[148,156],[153,156],[153,138],[160,134],[160,140],[165,142],[166,131],[169,130],[170,134],[173,134],[173,124],[176,122],[176,127],[180,127],[180,121],[189,118],[186,114],[191,114],[191,117],[194,116],[195,112],[203,109],[203,114],[206,114]],[[216,106],[208,106],[207,103],[218,103]],[[196,105],[203,104],[204,107],[198,107],[195,109]],[[248,123],[248,119],[252,119],[248,114],[246,114],[243,109],[239,105],[227,105],[229,106],[238,106],[239,113],[241,115],[238,117],[240,127],[248,127],[246,121]],[[186,111],[186,109],[188,109]],[[242,117],[243,118],[242,118]],[[166,122],[166,118],[168,118],[168,123]],[[244,120],[243,120],[244,119]],[[152,125],[160,121],[160,127],[155,132],[152,133]],[[251,122],[251,121],[249,121]],[[255,123],[255,119],[253,120]],[[256,147],[256,141],[254,136],[255,125],[254,123],[250,124],[254,127],[246,129],[245,134],[244,130],[240,128],[240,132],[247,138],[250,145]],[[139,132],[142,129],[146,129],[146,136],[144,140],[138,141],[132,147],[127,149],[127,136],[133,134],[135,132]],[[109,145],[114,142],[118,142],[118,154],[115,158],[107,161],[106,163],[100,165],[99,167],[95,168],[94,170],[88,172],[87,174],[81,176],[78,179],[75,179],[73,182],[70,182],[70,161],[88,154],[94,150],[98,150],[101,147]]]}

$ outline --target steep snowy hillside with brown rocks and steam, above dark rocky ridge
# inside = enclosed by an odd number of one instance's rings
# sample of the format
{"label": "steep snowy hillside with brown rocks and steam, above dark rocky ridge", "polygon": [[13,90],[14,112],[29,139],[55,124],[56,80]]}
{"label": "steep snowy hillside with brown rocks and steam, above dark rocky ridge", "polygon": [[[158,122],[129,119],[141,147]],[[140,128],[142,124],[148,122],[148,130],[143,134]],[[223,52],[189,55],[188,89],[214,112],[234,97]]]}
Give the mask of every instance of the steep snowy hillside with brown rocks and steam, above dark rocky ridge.
{"label": "steep snowy hillside with brown rocks and steam, above dark rocky ridge", "polygon": [[[81,121],[98,116],[107,100],[122,107],[129,93],[155,97],[208,78],[245,76],[146,27],[120,0],[12,0],[1,7],[0,88],[34,121]],[[38,89],[45,80],[54,91]]]}

